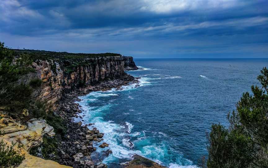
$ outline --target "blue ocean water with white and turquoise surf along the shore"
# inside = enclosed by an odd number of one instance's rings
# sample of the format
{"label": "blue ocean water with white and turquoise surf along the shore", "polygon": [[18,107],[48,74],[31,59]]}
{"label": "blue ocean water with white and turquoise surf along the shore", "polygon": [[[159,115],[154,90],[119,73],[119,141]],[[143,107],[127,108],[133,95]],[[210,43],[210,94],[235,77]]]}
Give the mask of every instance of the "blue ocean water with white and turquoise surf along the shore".
{"label": "blue ocean water with white and turquoise surf along the shore", "polygon": [[[267,65],[260,59],[135,59],[143,70],[127,73],[140,86],[80,97],[84,124],[95,123],[113,151],[104,163],[139,154],[167,167],[193,168],[206,156],[212,123],[226,115]],[[77,121],[81,120],[76,118]],[[95,144],[95,146],[100,143]],[[107,150],[97,148],[98,152]]]}

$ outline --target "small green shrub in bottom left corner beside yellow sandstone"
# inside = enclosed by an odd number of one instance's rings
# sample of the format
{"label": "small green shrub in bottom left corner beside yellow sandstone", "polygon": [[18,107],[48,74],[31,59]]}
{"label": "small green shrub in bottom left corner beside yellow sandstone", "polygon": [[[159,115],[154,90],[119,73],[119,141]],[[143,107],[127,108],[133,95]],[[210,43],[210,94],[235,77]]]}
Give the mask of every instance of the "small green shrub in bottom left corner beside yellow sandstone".
{"label": "small green shrub in bottom left corner beside yellow sandstone", "polygon": [[11,146],[7,145],[3,139],[0,141],[0,167],[14,168],[25,159],[25,154],[16,152],[14,146],[13,143]]}

